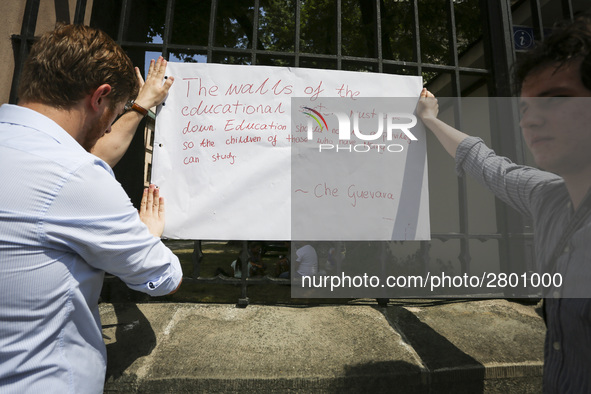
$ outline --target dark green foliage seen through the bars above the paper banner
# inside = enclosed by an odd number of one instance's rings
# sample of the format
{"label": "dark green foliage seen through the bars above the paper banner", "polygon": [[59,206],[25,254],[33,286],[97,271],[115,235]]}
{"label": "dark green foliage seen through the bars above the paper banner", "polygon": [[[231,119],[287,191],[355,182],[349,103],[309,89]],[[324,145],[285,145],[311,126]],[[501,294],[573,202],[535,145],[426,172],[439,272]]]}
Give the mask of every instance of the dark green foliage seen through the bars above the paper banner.
{"label": "dark green foliage seen through the bars above the paper banner", "polygon": [[[452,64],[450,7],[447,0],[419,0],[418,37],[412,0],[376,0],[381,17],[382,58],[405,62]],[[345,56],[377,58],[376,1],[342,0],[341,51]],[[112,2],[109,0],[109,2]],[[157,42],[165,34],[166,3],[162,0],[134,0],[130,29],[133,40]],[[215,17],[214,46],[293,53],[296,39],[302,54],[337,55],[337,9],[333,0],[300,0],[300,34],[296,37],[298,0],[260,0],[258,30],[255,32],[254,1],[220,0]],[[176,0],[170,42],[187,46],[207,46],[211,15],[210,0]],[[482,36],[479,0],[454,0],[453,16],[457,48],[461,53]],[[256,35],[256,42],[255,42]],[[143,38],[142,38],[143,37]],[[194,61],[196,51],[181,52],[185,61]],[[250,55],[215,51],[214,62],[249,64]],[[260,55],[259,55],[260,56]],[[263,56],[259,63],[290,65],[289,58]],[[306,65],[310,66],[310,65]],[[314,64],[311,65],[312,67]],[[318,67],[326,67],[319,62]],[[351,67],[349,67],[350,69]]]}

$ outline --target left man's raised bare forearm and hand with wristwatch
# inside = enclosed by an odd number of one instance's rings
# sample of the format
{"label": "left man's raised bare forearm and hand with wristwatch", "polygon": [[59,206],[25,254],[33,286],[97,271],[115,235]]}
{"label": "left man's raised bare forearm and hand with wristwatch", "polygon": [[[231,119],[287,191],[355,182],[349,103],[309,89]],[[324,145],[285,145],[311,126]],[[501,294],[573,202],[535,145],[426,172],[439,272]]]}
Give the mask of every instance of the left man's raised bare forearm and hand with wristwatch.
{"label": "left man's raised bare forearm and hand with wristwatch", "polygon": [[[140,70],[135,68],[140,84],[140,91],[135,102],[141,107],[149,110],[162,103],[166,98],[168,90],[174,82],[173,77],[167,78],[164,83],[162,82],[166,72],[166,63],[162,56],[157,61],[152,59],[145,83]],[[127,151],[142,119],[143,116],[136,111],[128,111],[121,115],[111,127],[111,132],[97,141],[92,148],[92,153],[106,161],[111,168],[114,167]]]}

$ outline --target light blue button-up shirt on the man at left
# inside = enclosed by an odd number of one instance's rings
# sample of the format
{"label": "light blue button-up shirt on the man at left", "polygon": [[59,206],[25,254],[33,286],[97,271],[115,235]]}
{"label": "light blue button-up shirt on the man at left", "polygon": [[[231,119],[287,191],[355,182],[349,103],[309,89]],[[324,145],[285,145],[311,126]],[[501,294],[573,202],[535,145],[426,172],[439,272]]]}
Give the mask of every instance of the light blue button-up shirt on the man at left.
{"label": "light blue button-up shirt on the man at left", "polygon": [[178,258],[111,168],[51,119],[0,108],[0,392],[102,393],[104,272],[164,295]]}

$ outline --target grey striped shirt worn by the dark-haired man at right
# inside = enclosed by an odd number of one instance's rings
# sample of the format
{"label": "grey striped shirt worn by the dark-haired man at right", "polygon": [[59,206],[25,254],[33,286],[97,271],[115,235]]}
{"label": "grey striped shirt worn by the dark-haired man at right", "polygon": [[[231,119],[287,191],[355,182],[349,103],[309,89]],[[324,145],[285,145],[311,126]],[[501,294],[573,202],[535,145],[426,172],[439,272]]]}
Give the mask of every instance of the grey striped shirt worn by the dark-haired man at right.
{"label": "grey striped shirt worn by the dark-haired man at right", "polygon": [[[573,211],[563,179],[497,156],[477,137],[459,145],[456,171],[470,174],[532,219],[538,272],[551,273],[548,260],[570,220],[580,214]],[[590,218],[568,240],[555,270],[563,284],[546,293],[544,392],[591,393]]]}

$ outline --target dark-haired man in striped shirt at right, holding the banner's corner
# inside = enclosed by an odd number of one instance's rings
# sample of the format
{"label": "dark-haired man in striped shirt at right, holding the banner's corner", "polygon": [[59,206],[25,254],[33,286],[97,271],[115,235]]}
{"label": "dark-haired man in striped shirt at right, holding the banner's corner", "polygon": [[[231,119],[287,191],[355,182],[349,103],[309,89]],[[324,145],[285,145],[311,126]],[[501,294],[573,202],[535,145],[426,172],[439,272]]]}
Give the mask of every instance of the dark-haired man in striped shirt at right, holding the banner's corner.
{"label": "dark-haired man in striped shirt at right, holding the banner's corner", "polygon": [[480,138],[437,119],[423,90],[417,114],[468,173],[533,220],[540,273],[559,273],[546,289],[544,392],[591,392],[591,13],[558,26],[516,68],[520,126],[536,164],[497,156]]}

